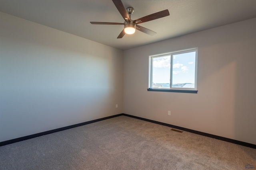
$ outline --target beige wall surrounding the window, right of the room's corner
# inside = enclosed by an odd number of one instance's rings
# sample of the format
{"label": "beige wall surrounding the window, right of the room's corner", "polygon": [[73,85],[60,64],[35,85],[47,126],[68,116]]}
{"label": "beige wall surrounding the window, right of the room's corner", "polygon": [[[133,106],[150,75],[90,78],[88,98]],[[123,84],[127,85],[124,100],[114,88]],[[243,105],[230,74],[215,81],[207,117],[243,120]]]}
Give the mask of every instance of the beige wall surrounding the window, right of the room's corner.
{"label": "beige wall surrounding the window, right of the room's corner", "polygon": [[[255,30],[256,18],[124,51],[124,113],[256,144]],[[147,91],[149,55],[193,47],[198,94]]]}

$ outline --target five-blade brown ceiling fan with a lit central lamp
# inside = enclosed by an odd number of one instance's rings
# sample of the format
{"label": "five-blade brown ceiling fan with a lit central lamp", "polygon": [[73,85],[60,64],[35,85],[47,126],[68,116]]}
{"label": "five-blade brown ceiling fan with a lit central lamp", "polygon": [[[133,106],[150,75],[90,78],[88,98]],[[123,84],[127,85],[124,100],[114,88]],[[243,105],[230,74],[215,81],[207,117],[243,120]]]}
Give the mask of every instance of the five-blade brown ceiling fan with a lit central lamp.
{"label": "five-blade brown ceiling fan with a lit central lamp", "polygon": [[156,20],[158,18],[162,18],[162,17],[166,17],[169,16],[169,11],[168,10],[163,10],[160,12],[156,12],[154,14],[150,14],[148,16],[144,16],[142,18],[139,18],[137,20],[131,20],[131,14],[134,11],[134,8],[132,7],[128,7],[124,8],[124,5],[122,3],[121,0],[112,0],[116,6],[116,8],[118,9],[118,11],[120,12],[120,14],[122,15],[122,17],[124,18],[124,23],[116,23],[116,22],[90,22],[91,24],[103,24],[103,25],[124,25],[124,29],[122,30],[122,32],[118,35],[117,38],[122,38],[124,37],[125,34],[133,34],[135,32],[135,29],[137,29],[138,31],[142,31],[148,35],[155,35],[156,32],[147,29],[145,27],[142,27],[140,25],[138,25],[139,23],[143,23],[143,22],[147,22],[147,21],[152,21],[152,20]]}

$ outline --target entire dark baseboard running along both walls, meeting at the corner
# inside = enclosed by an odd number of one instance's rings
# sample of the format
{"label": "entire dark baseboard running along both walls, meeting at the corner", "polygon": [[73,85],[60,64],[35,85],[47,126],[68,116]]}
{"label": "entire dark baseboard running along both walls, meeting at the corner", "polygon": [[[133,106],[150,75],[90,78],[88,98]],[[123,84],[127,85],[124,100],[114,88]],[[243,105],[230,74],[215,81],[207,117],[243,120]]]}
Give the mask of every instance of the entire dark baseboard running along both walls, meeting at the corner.
{"label": "entire dark baseboard running along both walls, meeting at the corner", "polygon": [[97,122],[97,121],[102,121],[102,120],[106,120],[106,119],[110,119],[110,118],[118,117],[118,116],[122,116],[122,115],[128,116],[128,117],[132,117],[132,118],[136,118],[136,119],[140,119],[140,120],[144,120],[144,121],[148,121],[148,122],[151,122],[151,123],[156,123],[156,124],[159,124],[159,125],[164,125],[164,126],[172,127],[172,128],[179,129],[179,130],[182,130],[182,131],[187,131],[187,132],[190,132],[190,133],[195,133],[195,134],[198,134],[198,135],[203,135],[203,136],[206,136],[206,137],[211,137],[211,138],[214,138],[214,139],[219,139],[219,140],[222,140],[222,141],[226,141],[226,142],[242,145],[242,146],[245,146],[245,147],[250,147],[250,148],[256,149],[256,145],[251,144],[251,143],[237,141],[237,140],[229,139],[229,138],[226,138],[226,137],[220,137],[220,136],[217,136],[217,135],[212,135],[212,134],[209,134],[209,133],[204,133],[204,132],[195,131],[195,130],[192,130],[192,129],[187,129],[187,128],[184,128],[184,127],[170,125],[170,124],[162,123],[162,122],[159,122],[159,121],[154,121],[154,120],[145,119],[145,118],[142,118],[142,117],[128,115],[128,114],[125,114],[125,113],[121,113],[121,114],[118,114],[118,115],[112,115],[112,116],[108,116],[108,117],[103,117],[103,118],[92,120],[92,121],[86,121],[84,123],[78,123],[76,125],[70,125],[70,126],[66,126],[66,127],[62,127],[62,128],[58,128],[58,129],[53,129],[53,130],[50,130],[50,131],[36,133],[34,135],[28,135],[28,136],[25,136],[25,137],[11,139],[11,140],[8,140],[8,141],[3,141],[3,142],[0,142],[0,146],[4,146],[4,145],[11,144],[11,143],[16,143],[16,142],[24,141],[24,140],[27,140],[27,139],[32,139],[34,137],[40,137],[42,135],[48,135],[50,133],[55,133],[55,132],[58,132],[58,131],[63,131],[63,130],[66,130],[66,129],[71,129],[71,128],[74,128],[74,127],[78,127],[78,126],[82,126],[82,125],[87,125],[87,124],[90,124],[90,123],[94,123],[94,122]]}

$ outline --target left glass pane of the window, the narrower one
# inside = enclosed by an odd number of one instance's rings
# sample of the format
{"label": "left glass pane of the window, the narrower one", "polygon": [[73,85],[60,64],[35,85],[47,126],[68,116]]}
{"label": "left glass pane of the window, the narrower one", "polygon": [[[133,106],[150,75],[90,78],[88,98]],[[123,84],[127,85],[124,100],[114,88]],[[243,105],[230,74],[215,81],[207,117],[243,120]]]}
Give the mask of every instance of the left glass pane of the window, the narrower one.
{"label": "left glass pane of the window, the narrower one", "polygon": [[170,61],[170,55],[152,59],[152,88],[170,88]]}

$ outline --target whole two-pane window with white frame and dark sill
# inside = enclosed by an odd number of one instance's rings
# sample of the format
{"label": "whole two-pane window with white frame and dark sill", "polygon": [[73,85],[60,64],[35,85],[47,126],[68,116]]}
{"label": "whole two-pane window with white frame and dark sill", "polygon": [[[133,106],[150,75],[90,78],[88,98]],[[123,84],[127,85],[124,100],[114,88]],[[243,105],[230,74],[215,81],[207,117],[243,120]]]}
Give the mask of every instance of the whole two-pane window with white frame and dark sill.
{"label": "whole two-pane window with white frame and dark sill", "polygon": [[197,93],[197,48],[149,56],[148,91]]}

